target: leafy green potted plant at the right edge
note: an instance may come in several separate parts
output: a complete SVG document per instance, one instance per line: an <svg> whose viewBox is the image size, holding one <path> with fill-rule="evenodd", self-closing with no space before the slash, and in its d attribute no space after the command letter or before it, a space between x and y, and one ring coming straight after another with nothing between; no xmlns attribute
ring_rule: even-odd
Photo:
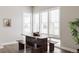
<svg viewBox="0 0 79 59"><path fill-rule="evenodd" d="M71 21L69 24L72 37L76 43L77 52L79 52L79 19L76 18L75 21Z"/></svg>

